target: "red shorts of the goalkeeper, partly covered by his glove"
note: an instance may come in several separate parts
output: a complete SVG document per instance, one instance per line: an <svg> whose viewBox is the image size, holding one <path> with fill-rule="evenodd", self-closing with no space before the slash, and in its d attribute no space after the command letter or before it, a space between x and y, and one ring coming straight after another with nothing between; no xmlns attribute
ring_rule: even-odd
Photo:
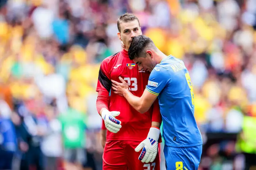
<svg viewBox="0 0 256 170"><path fill-rule="evenodd" d="M139 141L107 141L102 156L102 170L160 170L158 153L152 163L139 160L141 152L134 151L139 144Z"/></svg>

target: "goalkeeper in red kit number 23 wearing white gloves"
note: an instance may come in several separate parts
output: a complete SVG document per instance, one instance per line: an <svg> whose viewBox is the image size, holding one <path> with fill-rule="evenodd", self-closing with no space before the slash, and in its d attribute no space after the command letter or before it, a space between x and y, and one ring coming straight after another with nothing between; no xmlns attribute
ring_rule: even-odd
<svg viewBox="0 0 256 170"><path fill-rule="evenodd" d="M103 126L108 130L103 170L159 170L161 116L158 101L146 113L140 114L124 97L111 91L111 80L117 81L121 76L129 84L132 94L141 96L150 75L139 70L128 56L133 37L142 35L139 19L126 13L118 18L117 27L117 35L125 48L103 60L96 89L97 110L104 121Z"/></svg>

